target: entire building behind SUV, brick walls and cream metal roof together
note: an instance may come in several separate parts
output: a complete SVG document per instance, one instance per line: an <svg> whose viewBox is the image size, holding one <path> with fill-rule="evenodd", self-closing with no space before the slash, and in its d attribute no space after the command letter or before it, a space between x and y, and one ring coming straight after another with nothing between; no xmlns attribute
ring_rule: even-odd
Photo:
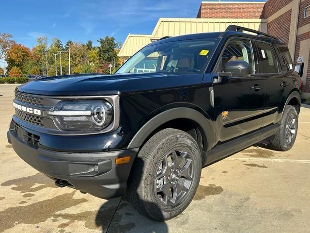
<svg viewBox="0 0 310 233"><path fill-rule="evenodd" d="M152 34L129 34L118 55L127 60L163 36L225 31L231 24L277 36L295 65L303 58L302 97L310 97L310 0L202 1L197 18L159 18Z"/></svg>

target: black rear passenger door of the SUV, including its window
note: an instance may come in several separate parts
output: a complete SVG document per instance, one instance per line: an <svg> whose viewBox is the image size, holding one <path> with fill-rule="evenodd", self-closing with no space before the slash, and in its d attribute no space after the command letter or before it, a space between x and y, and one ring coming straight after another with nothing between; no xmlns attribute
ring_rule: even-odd
<svg viewBox="0 0 310 233"><path fill-rule="evenodd" d="M289 78L289 67L282 70L279 56L273 45L265 42L253 42L256 49L258 73L264 77L265 110L262 127L279 121L288 88L292 79ZM279 51L278 51L279 52ZM291 65L292 66L292 65Z"/></svg>

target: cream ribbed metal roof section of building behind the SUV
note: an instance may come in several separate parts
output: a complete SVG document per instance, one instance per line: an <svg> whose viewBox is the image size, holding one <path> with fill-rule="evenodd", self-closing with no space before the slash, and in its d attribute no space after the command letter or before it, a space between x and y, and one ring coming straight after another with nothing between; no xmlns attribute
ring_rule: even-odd
<svg viewBox="0 0 310 233"><path fill-rule="evenodd" d="M223 32L231 24L267 32L266 19L159 18L152 34L128 34L118 56L128 59L144 46L164 36Z"/></svg>

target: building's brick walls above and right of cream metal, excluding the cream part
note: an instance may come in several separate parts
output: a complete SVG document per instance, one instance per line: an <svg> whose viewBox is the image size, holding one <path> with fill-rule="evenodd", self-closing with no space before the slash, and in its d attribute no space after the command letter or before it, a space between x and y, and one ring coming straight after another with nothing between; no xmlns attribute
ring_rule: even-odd
<svg viewBox="0 0 310 233"><path fill-rule="evenodd" d="M197 18L265 19L267 32L286 43L294 64L303 58L303 98L310 97L310 0L202 1Z"/></svg>

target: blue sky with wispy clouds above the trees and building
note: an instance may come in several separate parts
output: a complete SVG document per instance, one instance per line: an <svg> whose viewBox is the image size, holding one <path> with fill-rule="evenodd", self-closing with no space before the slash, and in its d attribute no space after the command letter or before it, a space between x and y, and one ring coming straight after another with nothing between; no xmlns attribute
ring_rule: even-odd
<svg viewBox="0 0 310 233"><path fill-rule="evenodd" d="M151 34L160 17L196 17L200 0L1 0L0 32L32 48L38 36L85 43Z"/></svg>

